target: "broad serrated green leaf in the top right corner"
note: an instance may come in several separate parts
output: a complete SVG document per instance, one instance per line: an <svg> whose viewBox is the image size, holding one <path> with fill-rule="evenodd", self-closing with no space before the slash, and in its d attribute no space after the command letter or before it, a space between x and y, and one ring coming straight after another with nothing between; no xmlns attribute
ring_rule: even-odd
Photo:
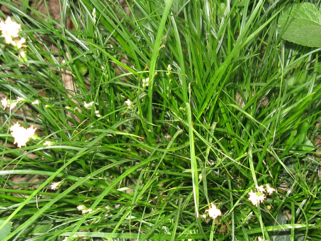
<svg viewBox="0 0 321 241"><path fill-rule="evenodd" d="M310 3L295 5L278 22L284 40L309 47L321 47L321 12Z"/></svg>

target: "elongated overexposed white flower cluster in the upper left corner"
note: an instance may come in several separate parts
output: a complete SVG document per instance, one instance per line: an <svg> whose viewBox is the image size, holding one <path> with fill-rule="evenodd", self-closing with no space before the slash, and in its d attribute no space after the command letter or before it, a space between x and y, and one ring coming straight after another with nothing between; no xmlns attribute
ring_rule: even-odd
<svg viewBox="0 0 321 241"><path fill-rule="evenodd" d="M0 22L0 31L5 42L17 47L17 49L24 47L23 44L26 42L25 38L17 39L19 37L20 30L21 25L12 21L10 17L8 17L5 21ZM26 54L23 50L20 50L20 56L23 59L26 58Z"/></svg>

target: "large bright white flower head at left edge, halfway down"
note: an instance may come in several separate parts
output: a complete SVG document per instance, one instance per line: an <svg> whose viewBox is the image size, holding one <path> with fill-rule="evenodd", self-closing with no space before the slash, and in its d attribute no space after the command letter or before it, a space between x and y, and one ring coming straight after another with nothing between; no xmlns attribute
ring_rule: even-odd
<svg viewBox="0 0 321 241"><path fill-rule="evenodd" d="M26 145L30 138L36 139L36 129L37 128L33 129L32 127L25 129L24 127L20 126L18 122L15 123L12 127L10 127L11 135L14 137L13 144L17 143L18 147L22 147Z"/></svg>

